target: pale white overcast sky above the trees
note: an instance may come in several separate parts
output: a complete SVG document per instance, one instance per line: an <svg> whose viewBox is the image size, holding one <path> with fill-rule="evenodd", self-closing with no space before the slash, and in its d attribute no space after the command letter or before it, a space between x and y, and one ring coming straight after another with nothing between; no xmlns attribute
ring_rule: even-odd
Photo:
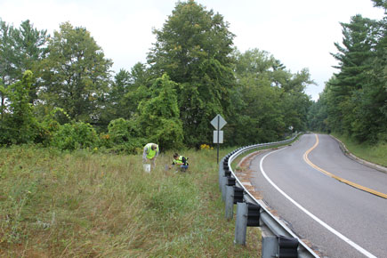
<svg viewBox="0 0 387 258"><path fill-rule="evenodd" d="M184 2L184 1L181 1ZM337 52L334 43L343 39L339 22L351 16L380 20L383 10L371 0L197 0L213 9L230 23L238 50L258 48L270 52L287 69L296 73L310 70L317 85L306 89L313 100L325 82L336 72ZM91 32L105 53L113 60L113 70L132 69L145 62L155 43L152 28L162 28L172 14L177 0L0 0L0 18L19 27L30 20L37 29L52 35L60 23Z"/></svg>

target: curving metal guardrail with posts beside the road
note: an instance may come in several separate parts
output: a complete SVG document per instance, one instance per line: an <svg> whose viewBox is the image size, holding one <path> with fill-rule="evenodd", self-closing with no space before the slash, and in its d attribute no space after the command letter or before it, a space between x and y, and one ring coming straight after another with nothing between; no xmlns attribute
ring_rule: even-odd
<svg viewBox="0 0 387 258"><path fill-rule="evenodd" d="M232 171L231 163L246 151L286 144L299 135L286 141L254 144L235 149L222 160L219 165L219 185L222 189L222 199L226 203L226 218L232 219L233 205L237 205L235 244L246 245L246 227L260 227L262 230L262 258L271 257L319 257L309 246L298 238L284 222L278 220L262 202L257 200L239 181Z"/></svg>

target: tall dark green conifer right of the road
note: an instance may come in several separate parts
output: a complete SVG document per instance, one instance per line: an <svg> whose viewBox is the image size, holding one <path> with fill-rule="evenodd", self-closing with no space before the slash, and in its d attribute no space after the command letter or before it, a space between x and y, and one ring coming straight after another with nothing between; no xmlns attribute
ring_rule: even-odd
<svg viewBox="0 0 387 258"><path fill-rule="evenodd" d="M339 73L329 84L329 121L333 130L367 141L375 137L383 121L380 108L385 93L381 85L385 78L380 77L380 72L386 64L381 59L385 32L380 22L361 15L353 16L351 23L342 26L343 46L335 44L339 52L334 54L339 60Z"/></svg>

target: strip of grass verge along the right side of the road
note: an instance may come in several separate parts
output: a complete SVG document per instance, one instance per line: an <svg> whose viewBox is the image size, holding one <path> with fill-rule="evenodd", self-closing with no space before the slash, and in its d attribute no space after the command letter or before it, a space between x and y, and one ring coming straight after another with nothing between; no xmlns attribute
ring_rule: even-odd
<svg viewBox="0 0 387 258"><path fill-rule="evenodd" d="M387 142L379 142L377 144L358 143L351 138L332 133L337 139L343 141L345 147L356 157L367 160L369 162L387 166Z"/></svg>

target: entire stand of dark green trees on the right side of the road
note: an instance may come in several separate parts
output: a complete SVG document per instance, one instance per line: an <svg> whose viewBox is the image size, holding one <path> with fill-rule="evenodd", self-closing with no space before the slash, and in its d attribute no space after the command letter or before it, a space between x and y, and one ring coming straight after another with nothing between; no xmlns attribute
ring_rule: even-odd
<svg viewBox="0 0 387 258"><path fill-rule="evenodd" d="M387 1L373 2L383 8L383 20L356 15L341 23L343 44L333 54L338 72L310 108L311 130L387 142Z"/></svg>

